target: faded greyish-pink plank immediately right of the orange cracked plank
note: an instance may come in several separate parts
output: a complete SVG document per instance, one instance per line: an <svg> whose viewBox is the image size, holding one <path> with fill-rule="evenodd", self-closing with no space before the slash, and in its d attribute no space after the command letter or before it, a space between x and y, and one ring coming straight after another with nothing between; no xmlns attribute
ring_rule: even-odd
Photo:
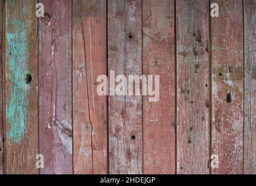
<svg viewBox="0 0 256 186"><path fill-rule="evenodd" d="M141 0L108 1L108 69L109 76L111 70L114 76L142 73ZM109 96L111 174L143 172L141 102L141 96Z"/></svg>

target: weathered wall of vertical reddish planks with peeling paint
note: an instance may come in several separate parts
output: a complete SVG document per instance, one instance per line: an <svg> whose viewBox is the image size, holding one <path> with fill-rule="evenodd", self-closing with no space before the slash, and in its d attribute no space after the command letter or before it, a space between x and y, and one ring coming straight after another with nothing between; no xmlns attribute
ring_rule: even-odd
<svg viewBox="0 0 256 186"><path fill-rule="evenodd" d="M0 174L256 174L255 0L0 10ZM141 74L159 75L158 102L97 94L99 75Z"/></svg>

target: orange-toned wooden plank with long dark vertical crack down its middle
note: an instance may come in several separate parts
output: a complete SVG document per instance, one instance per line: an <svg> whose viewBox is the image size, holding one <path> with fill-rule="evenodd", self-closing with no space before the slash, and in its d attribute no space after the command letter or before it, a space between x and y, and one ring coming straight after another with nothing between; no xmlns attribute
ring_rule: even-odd
<svg viewBox="0 0 256 186"><path fill-rule="evenodd" d="M106 1L73 1L74 174L106 174L107 99L97 94L106 75Z"/></svg>

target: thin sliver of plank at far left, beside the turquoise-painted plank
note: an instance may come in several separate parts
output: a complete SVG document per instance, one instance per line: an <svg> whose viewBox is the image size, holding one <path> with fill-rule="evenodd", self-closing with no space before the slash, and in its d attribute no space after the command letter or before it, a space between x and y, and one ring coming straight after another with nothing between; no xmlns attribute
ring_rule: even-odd
<svg viewBox="0 0 256 186"><path fill-rule="evenodd" d="M3 174L3 160L4 160L4 149L3 149L3 98L2 98L2 10L3 1L0 1L0 174Z"/></svg>

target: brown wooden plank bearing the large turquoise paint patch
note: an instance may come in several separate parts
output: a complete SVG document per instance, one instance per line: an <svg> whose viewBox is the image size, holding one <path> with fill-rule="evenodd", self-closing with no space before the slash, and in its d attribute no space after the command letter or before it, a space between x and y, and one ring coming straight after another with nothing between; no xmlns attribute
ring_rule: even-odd
<svg viewBox="0 0 256 186"><path fill-rule="evenodd" d="M5 1L6 173L37 174L37 1Z"/></svg>

